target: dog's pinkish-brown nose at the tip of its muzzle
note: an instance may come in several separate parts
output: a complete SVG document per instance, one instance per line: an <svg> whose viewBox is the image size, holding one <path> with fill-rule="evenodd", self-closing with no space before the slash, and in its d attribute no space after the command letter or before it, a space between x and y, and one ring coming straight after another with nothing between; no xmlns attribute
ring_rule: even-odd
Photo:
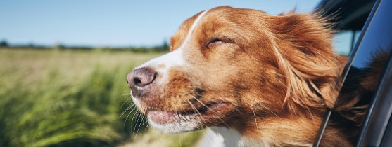
<svg viewBox="0 0 392 147"><path fill-rule="evenodd" d="M134 69L127 75L127 83L131 89L143 88L153 83L156 73L149 68Z"/></svg>

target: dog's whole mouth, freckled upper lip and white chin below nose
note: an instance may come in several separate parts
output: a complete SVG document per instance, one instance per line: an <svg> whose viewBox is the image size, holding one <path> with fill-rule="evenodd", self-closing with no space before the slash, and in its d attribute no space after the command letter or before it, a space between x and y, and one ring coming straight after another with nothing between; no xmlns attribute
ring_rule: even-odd
<svg viewBox="0 0 392 147"><path fill-rule="evenodd" d="M227 124L225 117L234 110L235 104L228 99L206 97L204 90L187 83L186 78L170 81L171 84L165 85L167 89L149 89L144 97L131 91L132 99L148 116L148 123L153 128L165 133L179 133Z"/></svg>

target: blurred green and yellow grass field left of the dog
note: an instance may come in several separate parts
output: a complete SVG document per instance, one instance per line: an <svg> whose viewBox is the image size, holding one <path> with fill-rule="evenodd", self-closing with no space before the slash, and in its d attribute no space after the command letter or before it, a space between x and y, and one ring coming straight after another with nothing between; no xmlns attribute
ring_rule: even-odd
<svg viewBox="0 0 392 147"><path fill-rule="evenodd" d="M200 132L159 134L127 109L125 76L159 55L0 48L0 146L191 146Z"/></svg>

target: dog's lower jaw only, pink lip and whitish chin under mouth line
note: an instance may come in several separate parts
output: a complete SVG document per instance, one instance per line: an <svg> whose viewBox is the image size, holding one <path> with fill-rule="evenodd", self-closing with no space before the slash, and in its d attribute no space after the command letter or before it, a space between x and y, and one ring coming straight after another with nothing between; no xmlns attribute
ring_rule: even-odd
<svg viewBox="0 0 392 147"><path fill-rule="evenodd" d="M183 124L183 123L198 123L201 128L210 120L220 119L220 112L225 107L229 106L227 102L210 102L199 108L191 106L189 111L148 111L148 118L150 123L155 125L165 126L170 124Z"/></svg>

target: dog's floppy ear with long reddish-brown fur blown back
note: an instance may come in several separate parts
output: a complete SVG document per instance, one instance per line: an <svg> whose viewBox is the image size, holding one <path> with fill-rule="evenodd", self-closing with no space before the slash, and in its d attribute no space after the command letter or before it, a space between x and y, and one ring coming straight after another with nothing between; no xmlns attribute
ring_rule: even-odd
<svg viewBox="0 0 392 147"><path fill-rule="evenodd" d="M327 20L317 14L287 13L268 21L279 70L286 76L289 109L332 108L343 59L332 50L334 31Z"/></svg>

